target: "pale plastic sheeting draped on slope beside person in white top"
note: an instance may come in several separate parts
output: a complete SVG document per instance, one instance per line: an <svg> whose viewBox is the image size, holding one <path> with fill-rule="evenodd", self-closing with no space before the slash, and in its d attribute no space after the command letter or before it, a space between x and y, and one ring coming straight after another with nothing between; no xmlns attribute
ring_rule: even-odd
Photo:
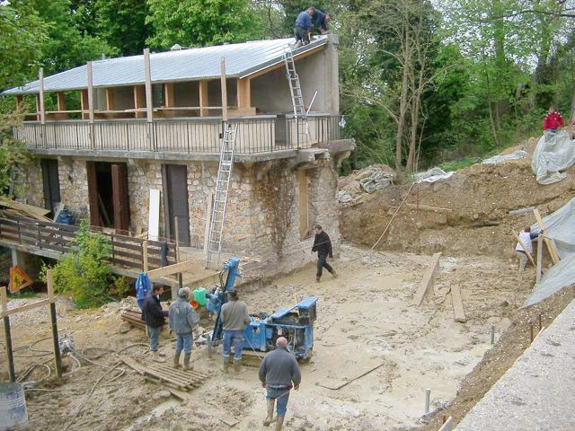
<svg viewBox="0 0 575 431"><path fill-rule="evenodd" d="M547 271L533 293L523 303L524 307L543 301L563 287L575 284L575 198L564 207L543 219L545 236L553 238L561 260ZM540 232L538 224L531 231Z"/></svg>

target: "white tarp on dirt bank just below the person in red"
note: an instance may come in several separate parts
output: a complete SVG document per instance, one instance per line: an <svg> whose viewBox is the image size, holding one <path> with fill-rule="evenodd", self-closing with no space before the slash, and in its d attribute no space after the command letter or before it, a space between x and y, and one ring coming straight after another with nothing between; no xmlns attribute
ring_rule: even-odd
<svg viewBox="0 0 575 431"><path fill-rule="evenodd" d="M567 177L567 174L560 171L569 168L573 163L575 142L571 140L571 134L566 130L557 134L545 132L535 146L531 170L539 184L553 184Z"/></svg>

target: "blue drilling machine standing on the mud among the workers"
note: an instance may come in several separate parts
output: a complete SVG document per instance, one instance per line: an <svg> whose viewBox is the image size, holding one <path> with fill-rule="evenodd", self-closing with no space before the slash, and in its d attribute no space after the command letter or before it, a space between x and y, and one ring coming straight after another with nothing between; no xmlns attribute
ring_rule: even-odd
<svg viewBox="0 0 575 431"><path fill-rule="evenodd" d="M208 293L208 312L216 313L214 330L208 336L208 353L222 340L223 324L221 319L222 305L227 302L226 292L234 288L235 278L239 273L239 258L226 261L220 271L220 285ZM224 275L227 272L226 282ZM276 339L288 339L289 350L297 359L309 360L314 350L314 321L317 298L308 297L288 308L281 308L271 315L266 313L252 314L252 321L245 328L243 349L253 352L267 352L276 345Z"/></svg>

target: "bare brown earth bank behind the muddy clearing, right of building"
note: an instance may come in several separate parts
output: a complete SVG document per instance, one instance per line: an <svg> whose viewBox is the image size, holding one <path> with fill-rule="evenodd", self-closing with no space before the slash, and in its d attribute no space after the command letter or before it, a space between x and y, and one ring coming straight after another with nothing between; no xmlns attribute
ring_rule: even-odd
<svg viewBox="0 0 575 431"><path fill-rule="evenodd" d="M377 250L512 258L515 240L511 231L535 223L535 218L531 213L509 216L509 211L537 207L546 216L569 201L575 191L575 167L559 183L542 186L535 181L531 155L536 143L537 138L531 138L506 151L525 150L529 155L523 159L474 164L447 180L415 184ZM341 204L344 239L372 246L409 189L410 185L391 186Z"/></svg>

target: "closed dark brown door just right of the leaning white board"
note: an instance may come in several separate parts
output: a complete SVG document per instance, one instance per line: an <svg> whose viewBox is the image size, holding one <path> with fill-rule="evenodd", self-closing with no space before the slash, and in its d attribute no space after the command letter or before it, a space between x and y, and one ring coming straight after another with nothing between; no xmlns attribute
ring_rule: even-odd
<svg viewBox="0 0 575 431"><path fill-rule="evenodd" d="M164 207L166 233L175 240L175 217L181 246L190 246L190 209L188 207L188 170L181 164L164 165Z"/></svg>

